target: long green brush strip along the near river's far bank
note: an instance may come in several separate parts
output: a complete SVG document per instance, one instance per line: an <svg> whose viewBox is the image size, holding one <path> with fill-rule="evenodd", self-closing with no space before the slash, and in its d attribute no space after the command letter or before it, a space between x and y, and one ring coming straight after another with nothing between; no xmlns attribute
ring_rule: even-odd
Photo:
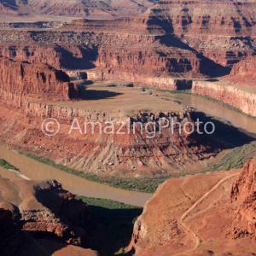
<svg viewBox="0 0 256 256"><path fill-rule="evenodd" d="M169 175L157 175L154 177L100 177L93 174L88 174L84 172L78 172L67 166L61 166L55 164L53 160L44 159L42 157L38 157L34 154L22 153L20 154L26 155L33 160L38 160L41 163L52 166L56 169L59 169L63 172L67 172L79 177L83 177L87 180L96 182L96 183L105 183L108 186L119 188L119 189L128 189L134 191L140 191L145 193L154 193L155 190L161 183L164 183L169 178L179 178L184 177L188 173L177 173L177 174L169 174ZM231 169L241 168L247 162L247 160L252 159L256 154L256 141L252 143L245 144L240 147L236 147L230 149L230 152L225 154L219 160L218 164L207 166L206 170L201 172L189 172L189 175L195 175L199 173L207 173L207 172L219 172L219 171L230 171Z"/></svg>

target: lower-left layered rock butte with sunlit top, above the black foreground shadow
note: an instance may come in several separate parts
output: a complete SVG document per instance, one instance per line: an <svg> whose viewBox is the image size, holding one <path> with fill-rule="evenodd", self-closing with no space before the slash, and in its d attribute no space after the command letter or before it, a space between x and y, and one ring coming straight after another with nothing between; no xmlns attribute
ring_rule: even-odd
<svg viewBox="0 0 256 256"><path fill-rule="evenodd" d="M83 201L63 190L56 181L9 181L0 177L2 197L0 207L15 212L22 230L44 236L55 235L73 245L84 245L90 226L90 211ZM12 195L11 197L9 195ZM18 212L17 212L18 211ZM5 212L6 213L6 212ZM7 214L9 213L9 214ZM4 232L13 223L11 212L0 211Z"/></svg>

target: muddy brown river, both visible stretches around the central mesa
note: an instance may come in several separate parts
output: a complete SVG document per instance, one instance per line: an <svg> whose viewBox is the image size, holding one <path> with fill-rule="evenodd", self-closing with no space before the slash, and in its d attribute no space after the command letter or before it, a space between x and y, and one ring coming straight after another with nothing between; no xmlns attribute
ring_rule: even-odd
<svg viewBox="0 0 256 256"><path fill-rule="evenodd" d="M183 105L195 108L197 111L218 116L226 119L231 125L236 126L240 131L256 138L256 120L249 119L241 113L236 113L224 108L217 103L209 102L199 96L177 95ZM63 189L67 189L76 195L84 195L96 198L111 199L125 204L143 207L152 197L152 194L115 189L101 183L90 182L84 178L61 172L51 166L44 165L24 155L20 155L8 148L0 146L0 159L8 161L11 165L20 169L21 174L30 179L55 179L62 183ZM2 177L22 178L19 173L9 172L0 168Z"/></svg>

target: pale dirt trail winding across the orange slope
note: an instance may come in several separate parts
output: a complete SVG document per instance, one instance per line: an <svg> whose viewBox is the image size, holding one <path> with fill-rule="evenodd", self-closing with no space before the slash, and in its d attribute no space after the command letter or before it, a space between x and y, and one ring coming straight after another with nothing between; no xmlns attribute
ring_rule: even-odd
<svg viewBox="0 0 256 256"><path fill-rule="evenodd" d="M206 199L207 196L210 195L214 190L218 189L218 187L222 183L224 183L227 179L229 179L230 177L234 177L236 175L239 175L239 174L240 174L240 170L237 171L236 174L231 174L228 177L224 177L212 189L210 189L205 195L203 195L198 201L195 201L195 204L192 207L190 207L186 212L183 213L181 218L179 218L178 223L183 226L184 230L187 230L187 232L188 232L188 234L190 234L190 236L194 237L194 239L195 239L195 246L192 249L189 249L186 252L173 254L172 256L178 256L178 255L184 255L184 254L192 253L193 251L195 251L195 249L200 244L200 238L198 236L196 236L195 233L192 230L190 230L189 227L186 224L183 223L184 219L188 216L189 212L192 212L195 209L195 207L197 207L204 199Z"/></svg>

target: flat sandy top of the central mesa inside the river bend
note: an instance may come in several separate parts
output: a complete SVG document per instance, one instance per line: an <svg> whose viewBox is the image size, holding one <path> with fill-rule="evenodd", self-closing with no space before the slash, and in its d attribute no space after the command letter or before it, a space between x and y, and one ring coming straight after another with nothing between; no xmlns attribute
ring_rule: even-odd
<svg viewBox="0 0 256 256"><path fill-rule="evenodd" d="M96 111L122 110L126 113L139 110L182 111L183 107L175 96L166 99L158 96L157 91L143 92L141 88L104 87L102 84L92 84L84 87L85 101L79 102L47 102L57 106L91 109ZM163 94L163 93L160 93ZM170 94L169 94L170 95Z"/></svg>

